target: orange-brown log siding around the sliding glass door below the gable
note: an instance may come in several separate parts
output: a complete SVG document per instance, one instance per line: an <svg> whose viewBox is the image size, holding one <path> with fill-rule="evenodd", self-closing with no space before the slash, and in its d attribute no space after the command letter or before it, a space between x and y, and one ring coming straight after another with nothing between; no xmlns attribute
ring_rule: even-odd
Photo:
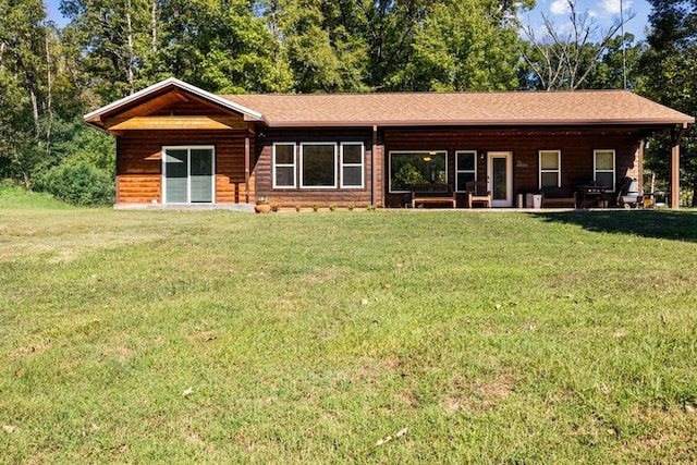
<svg viewBox="0 0 697 465"><path fill-rule="evenodd" d="M254 150L254 139L250 140ZM216 203L246 203L244 132L129 131L119 137L117 203L162 201L162 146L216 147ZM252 180L254 181L254 180ZM253 184L250 182L250 189ZM250 200L254 192L249 193Z"/></svg>

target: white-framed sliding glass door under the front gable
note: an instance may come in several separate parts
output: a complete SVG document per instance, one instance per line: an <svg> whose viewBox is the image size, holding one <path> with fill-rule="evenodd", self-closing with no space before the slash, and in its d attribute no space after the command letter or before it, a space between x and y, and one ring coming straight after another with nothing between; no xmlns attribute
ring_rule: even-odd
<svg viewBox="0 0 697 465"><path fill-rule="evenodd" d="M162 201L211 204L215 166L213 147L162 147Z"/></svg>

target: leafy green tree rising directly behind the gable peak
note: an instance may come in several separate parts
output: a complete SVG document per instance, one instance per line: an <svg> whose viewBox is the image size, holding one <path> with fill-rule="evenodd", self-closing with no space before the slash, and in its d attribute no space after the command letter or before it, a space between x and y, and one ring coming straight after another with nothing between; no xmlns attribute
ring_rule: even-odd
<svg viewBox="0 0 697 465"><path fill-rule="evenodd" d="M169 73L213 93L290 90L288 64L254 1L162 1L159 17L151 81Z"/></svg>

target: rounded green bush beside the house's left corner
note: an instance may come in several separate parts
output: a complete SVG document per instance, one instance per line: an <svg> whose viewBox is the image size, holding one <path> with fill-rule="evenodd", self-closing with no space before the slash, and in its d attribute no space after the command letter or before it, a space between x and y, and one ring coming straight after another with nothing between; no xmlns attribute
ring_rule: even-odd
<svg viewBox="0 0 697 465"><path fill-rule="evenodd" d="M38 187L53 197L78 206L102 206L114 203L114 182L103 170L80 162L48 170Z"/></svg>

